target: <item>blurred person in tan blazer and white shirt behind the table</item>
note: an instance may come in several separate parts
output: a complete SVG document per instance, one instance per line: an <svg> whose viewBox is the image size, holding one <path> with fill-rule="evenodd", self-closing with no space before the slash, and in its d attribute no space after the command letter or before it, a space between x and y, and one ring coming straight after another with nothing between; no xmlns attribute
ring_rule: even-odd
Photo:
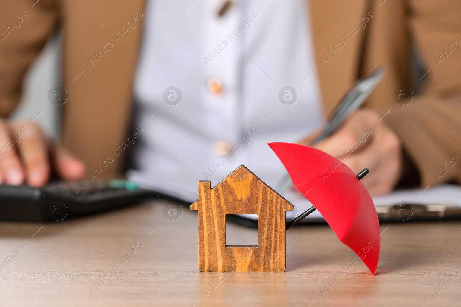
<svg viewBox="0 0 461 307"><path fill-rule="evenodd" d="M460 16L450 0L9 1L0 181L125 173L192 201L198 180L214 185L244 164L274 187L284 168L266 143L309 144L355 81L384 67L365 106L315 147L369 168L372 194L459 183ZM68 93L59 145L7 119L57 27Z"/></svg>

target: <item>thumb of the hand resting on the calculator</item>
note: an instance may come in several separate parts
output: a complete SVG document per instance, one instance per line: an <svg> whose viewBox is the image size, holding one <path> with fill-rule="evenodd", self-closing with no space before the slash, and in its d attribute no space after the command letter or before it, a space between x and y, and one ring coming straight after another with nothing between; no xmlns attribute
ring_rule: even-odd
<svg viewBox="0 0 461 307"><path fill-rule="evenodd" d="M73 156L65 148L51 145L53 164L59 176L66 180L79 180L85 174L85 163Z"/></svg>

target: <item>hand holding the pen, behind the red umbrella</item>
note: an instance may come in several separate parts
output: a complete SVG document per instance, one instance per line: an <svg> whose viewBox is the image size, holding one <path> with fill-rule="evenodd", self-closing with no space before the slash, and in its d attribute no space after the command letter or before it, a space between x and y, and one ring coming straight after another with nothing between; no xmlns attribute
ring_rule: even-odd
<svg viewBox="0 0 461 307"><path fill-rule="evenodd" d="M401 140L379 119L375 111L358 110L331 137L313 145L345 163L355 174L368 168L370 174L361 181L372 195L392 191L402 170ZM300 143L308 145L309 139Z"/></svg>

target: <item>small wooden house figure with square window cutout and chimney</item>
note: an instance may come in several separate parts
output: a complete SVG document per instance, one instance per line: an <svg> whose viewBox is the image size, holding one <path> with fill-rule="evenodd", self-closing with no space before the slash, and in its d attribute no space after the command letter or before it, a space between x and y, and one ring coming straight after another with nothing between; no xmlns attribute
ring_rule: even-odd
<svg viewBox="0 0 461 307"><path fill-rule="evenodd" d="M218 185L199 181L199 270L284 272L285 211L291 203L241 165ZM257 245L226 245L226 214L258 214Z"/></svg>

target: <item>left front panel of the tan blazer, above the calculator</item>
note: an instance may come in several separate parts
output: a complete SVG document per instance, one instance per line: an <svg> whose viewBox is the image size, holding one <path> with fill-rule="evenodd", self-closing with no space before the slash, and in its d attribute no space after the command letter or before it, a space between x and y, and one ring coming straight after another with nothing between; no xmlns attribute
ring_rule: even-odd
<svg viewBox="0 0 461 307"><path fill-rule="evenodd" d="M144 0L63 1L62 139L99 178L113 177L123 162L112 150L129 133L143 11Z"/></svg>

